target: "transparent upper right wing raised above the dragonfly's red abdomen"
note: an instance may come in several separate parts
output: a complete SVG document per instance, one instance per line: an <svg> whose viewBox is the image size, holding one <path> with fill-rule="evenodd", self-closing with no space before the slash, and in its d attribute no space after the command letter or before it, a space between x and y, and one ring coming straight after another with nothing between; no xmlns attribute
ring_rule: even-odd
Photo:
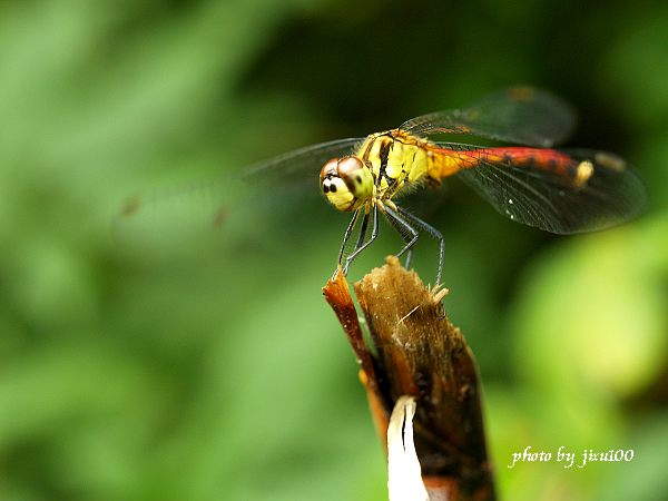
<svg viewBox="0 0 668 501"><path fill-rule="evenodd" d="M413 118L400 129L416 136L465 134L519 145L551 147L573 130L571 107L544 90L513 87L470 108Z"/></svg>

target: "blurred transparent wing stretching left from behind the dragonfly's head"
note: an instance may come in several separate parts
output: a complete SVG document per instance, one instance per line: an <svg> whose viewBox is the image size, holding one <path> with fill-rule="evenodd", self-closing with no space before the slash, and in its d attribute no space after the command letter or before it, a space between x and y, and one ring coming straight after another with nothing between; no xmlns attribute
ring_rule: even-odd
<svg viewBox="0 0 668 501"><path fill-rule="evenodd" d="M347 155L360 140L321 143L261 161L240 173L131 197L114 220L114 234L125 242L138 238L178 242L196 234L198 237L213 234L216 228L224 228L228 235L234 222L242 219L238 214L271 215L287 210L291 200L304 205L310 194L317 196L318 175L325 161Z"/></svg>

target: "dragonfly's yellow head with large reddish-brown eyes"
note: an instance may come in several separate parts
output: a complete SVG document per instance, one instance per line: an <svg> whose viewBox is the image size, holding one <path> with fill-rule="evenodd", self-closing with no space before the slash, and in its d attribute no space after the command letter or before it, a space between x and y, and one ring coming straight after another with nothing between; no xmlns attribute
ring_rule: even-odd
<svg viewBox="0 0 668 501"><path fill-rule="evenodd" d="M373 195L373 176L357 157L332 158L321 170L321 190L337 210L356 210Z"/></svg>

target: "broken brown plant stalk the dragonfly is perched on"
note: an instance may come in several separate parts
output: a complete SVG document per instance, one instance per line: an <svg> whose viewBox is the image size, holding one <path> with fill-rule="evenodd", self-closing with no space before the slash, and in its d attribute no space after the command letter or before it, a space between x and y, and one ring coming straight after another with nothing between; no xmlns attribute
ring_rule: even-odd
<svg viewBox="0 0 668 501"><path fill-rule="evenodd" d="M414 396L414 442L430 500L493 500L478 370L460 330L444 313L448 291L430 291L389 257L355 284L372 346L343 275L323 292L357 357L383 443L396 400Z"/></svg>

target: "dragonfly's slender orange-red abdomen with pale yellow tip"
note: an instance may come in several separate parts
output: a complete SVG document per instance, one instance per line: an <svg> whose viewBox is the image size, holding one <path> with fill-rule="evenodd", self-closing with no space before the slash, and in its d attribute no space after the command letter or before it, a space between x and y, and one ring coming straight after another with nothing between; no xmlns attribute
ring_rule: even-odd
<svg viewBox="0 0 668 501"><path fill-rule="evenodd" d="M461 149L454 149L454 147ZM529 147L493 147L493 148L469 148L465 145L452 145L452 147L435 147L431 149L432 169L431 177L442 179L452 176L462 169L472 169L481 164L495 167L518 167L538 169L546 174L552 174L570 180L578 186L587 181L591 175L589 166L571 156L549 148Z"/></svg>

